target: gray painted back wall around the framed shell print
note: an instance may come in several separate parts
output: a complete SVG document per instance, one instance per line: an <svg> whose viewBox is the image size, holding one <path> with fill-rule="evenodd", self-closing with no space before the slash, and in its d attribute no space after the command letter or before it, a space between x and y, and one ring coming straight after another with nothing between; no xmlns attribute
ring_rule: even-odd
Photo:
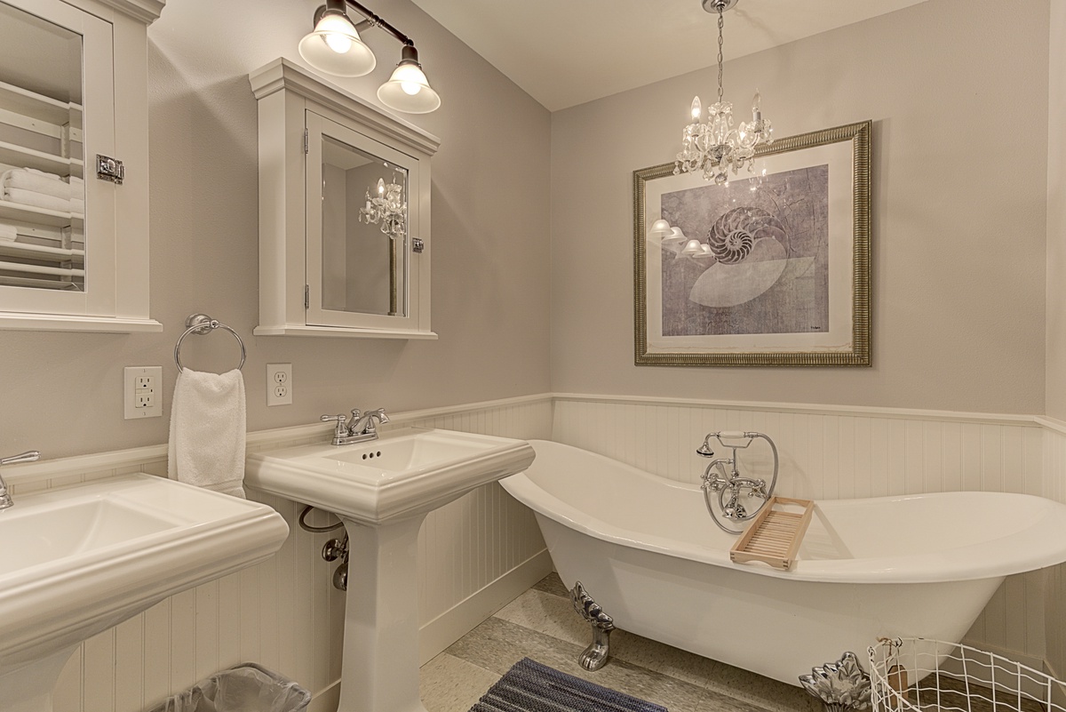
<svg viewBox="0 0 1066 712"><path fill-rule="evenodd" d="M871 369L633 366L632 171L716 71L555 112L554 390L1041 412L1048 42L1047 0L931 0L726 65L778 136L874 120Z"/></svg>

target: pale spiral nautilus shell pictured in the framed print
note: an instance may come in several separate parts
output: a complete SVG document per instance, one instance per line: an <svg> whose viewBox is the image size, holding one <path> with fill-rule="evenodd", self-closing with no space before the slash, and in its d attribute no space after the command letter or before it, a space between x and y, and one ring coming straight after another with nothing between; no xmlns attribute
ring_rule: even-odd
<svg viewBox="0 0 1066 712"><path fill-rule="evenodd" d="M762 208L729 210L714 221L707 241L715 262L689 294L707 307L733 307L754 300L777 284L789 264L788 228Z"/></svg>

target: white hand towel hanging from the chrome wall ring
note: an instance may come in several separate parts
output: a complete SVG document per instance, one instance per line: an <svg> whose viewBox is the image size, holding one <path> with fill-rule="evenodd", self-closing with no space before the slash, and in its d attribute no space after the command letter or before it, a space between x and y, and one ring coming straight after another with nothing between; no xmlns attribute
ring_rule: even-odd
<svg viewBox="0 0 1066 712"><path fill-rule="evenodd" d="M246 431L241 372L184 369L171 404L168 476L244 499Z"/></svg>

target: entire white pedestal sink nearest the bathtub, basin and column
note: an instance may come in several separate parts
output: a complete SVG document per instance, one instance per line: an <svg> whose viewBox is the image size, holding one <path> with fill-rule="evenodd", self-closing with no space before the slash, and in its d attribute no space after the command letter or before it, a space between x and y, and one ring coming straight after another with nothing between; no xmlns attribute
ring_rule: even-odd
<svg viewBox="0 0 1066 712"><path fill-rule="evenodd" d="M533 462L528 442L406 428L351 446L248 456L245 483L335 513L350 539L338 712L424 712L418 529L431 511Z"/></svg>

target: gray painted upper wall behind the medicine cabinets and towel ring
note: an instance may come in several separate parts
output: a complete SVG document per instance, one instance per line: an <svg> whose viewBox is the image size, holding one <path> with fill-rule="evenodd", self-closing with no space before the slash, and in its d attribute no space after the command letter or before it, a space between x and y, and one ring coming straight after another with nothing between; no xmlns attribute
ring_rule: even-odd
<svg viewBox="0 0 1066 712"><path fill-rule="evenodd" d="M440 136L433 159L433 328L437 341L252 336L258 320L256 100L247 72L301 62L317 0L173 0L149 28L152 335L0 331L0 453L53 458L164 442L188 314L244 337L248 428L323 412L393 410L549 390L548 112L407 0L374 10L418 43L440 92L410 120ZM240 32L232 28L239 28ZM369 76L337 83L376 102L400 46L366 33ZM133 177L138 180L143 177ZM219 333L190 337L182 361L236 366ZM268 408L265 365L293 365L293 404ZM163 366L167 417L123 419L124 366Z"/></svg>

